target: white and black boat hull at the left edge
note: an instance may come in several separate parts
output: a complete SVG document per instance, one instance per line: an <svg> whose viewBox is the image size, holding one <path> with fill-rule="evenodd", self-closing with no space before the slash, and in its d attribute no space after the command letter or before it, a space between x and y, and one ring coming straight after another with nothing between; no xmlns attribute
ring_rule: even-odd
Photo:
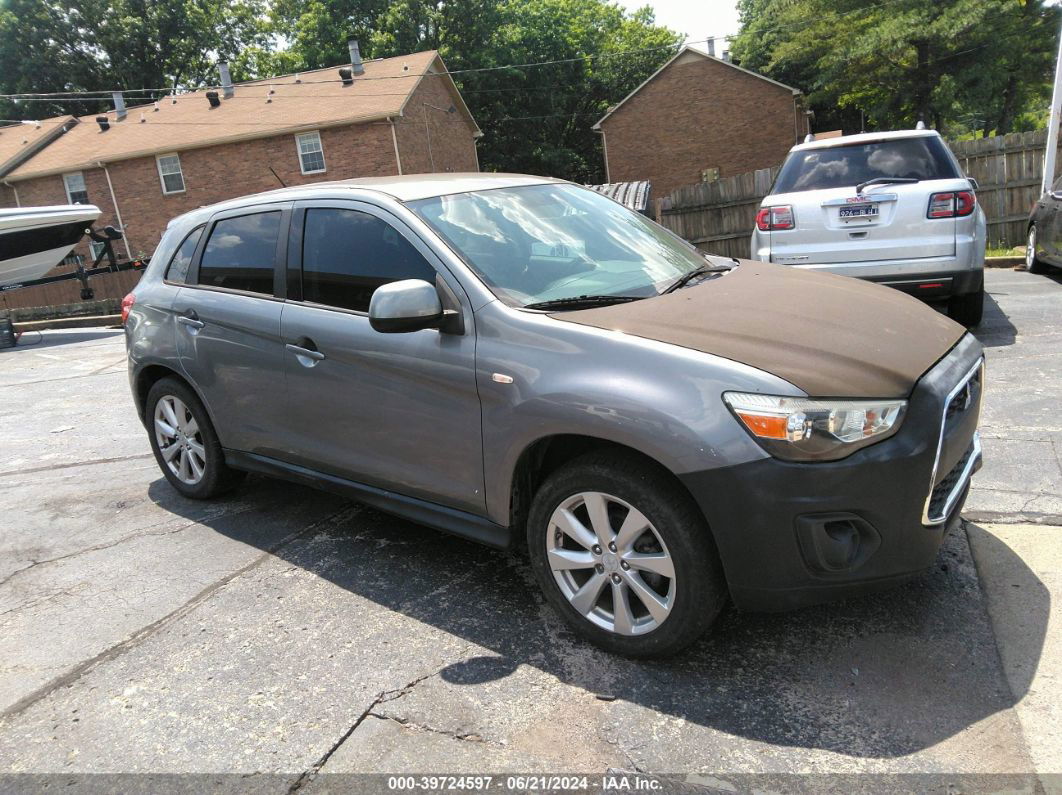
<svg viewBox="0 0 1062 795"><path fill-rule="evenodd" d="M91 204L0 210L0 288L51 271L99 217Z"/></svg>

